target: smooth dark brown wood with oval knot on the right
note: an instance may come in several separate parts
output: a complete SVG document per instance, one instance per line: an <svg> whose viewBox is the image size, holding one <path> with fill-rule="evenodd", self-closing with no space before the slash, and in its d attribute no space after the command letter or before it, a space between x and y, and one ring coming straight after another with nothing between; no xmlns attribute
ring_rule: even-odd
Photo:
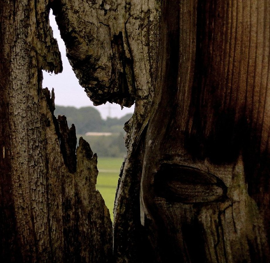
<svg viewBox="0 0 270 263"><path fill-rule="evenodd" d="M141 180L157 262L269 260L269 5L163 4Z"/></svg>

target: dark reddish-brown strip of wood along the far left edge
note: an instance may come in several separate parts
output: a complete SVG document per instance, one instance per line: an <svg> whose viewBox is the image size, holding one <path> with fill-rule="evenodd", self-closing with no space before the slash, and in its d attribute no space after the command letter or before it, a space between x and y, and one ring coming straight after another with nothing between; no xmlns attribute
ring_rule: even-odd
<svg viewBox="0 0 270 263"><path fill-rule="evenodd" d="M13 6L13 5L11 5ZM0 49L0 74L1 74L1 82L0 82L0 121L1 121L1 129L0 129L0 148L1 148L1 158L0 158L0 173L1 173L1 258L6 261L16 261L20 260L21 255L18 250L18 241L16 235L16 218L15 218L15 208L14 208L14 200L13 196L10 194L12 191L12 183L11 183L11 164L10 164L10 130L8 128L8 96L5 92L5 87L8 86L8 81L10 77L10 66L6 61L11 59L11 39L6 39L5 35L7 32L10 32L13 35L13 30L9 31L9 28L6 23L6 20L9 23L12 21L13 12L9 10L8 6L5 6L3 2L0 3L0 41L1 41L1 49ZM4 77L6 76L6 77ZM5 125L3 125L5 124ZM6 224L6 222L9 224ZM14 244L10 246L10 244Z"/></svg>

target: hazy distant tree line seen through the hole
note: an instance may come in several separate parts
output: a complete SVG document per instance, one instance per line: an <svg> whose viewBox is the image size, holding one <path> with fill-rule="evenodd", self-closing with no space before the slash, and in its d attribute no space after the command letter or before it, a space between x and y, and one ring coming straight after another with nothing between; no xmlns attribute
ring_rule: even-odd
<svg viewBox="0 0 270 263"><path fill-rule="evenodd" d="M124 157L127 154L124 145L125 131L123 129L132 114L121 118L101 118L100 112L93 107L63 107L55 106L54 115L65 115L69 127L74 124L77 138L83 136L88 141L98 157ZM86 136L87 132L111 132L111 136Z"/></svg>

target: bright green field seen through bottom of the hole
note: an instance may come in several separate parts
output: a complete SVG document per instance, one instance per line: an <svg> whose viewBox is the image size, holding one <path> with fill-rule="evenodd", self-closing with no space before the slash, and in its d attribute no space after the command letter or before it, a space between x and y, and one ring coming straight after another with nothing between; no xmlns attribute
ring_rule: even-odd
<svg viewBox="0 0 270 263"><path fill-rule="evenodd" d="M98 179L96 188L102 194L105 204L110 210L111 219L113 219L112 211L115 192L123 160L124 158L98 157Z"/></svg>

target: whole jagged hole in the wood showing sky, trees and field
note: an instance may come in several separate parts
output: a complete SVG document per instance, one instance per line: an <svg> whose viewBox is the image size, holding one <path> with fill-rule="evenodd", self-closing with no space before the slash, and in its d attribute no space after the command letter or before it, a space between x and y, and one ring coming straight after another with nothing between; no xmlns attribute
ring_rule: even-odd
<svg viewBox="0 0 270 263"><path fill-rule="evenodd" d="M124 123L130 119L134 106L124 107L123 110L115 103L93 106L84 89L78 84L68 62L64 42L60 37L52 12L49 20L61 52L63 72L55 75L43 71L43 87L48 86L50 90L54 88L56 93L54 115L56 117L65 115L69 127L72 123L75 124L76 136L83 136L90 143L92 150L97 152L100 171L96 187L101 192L113 219L112 208L119 171L127 153L123 127ZM64 106L59 106L59 104Z"/></svg>

